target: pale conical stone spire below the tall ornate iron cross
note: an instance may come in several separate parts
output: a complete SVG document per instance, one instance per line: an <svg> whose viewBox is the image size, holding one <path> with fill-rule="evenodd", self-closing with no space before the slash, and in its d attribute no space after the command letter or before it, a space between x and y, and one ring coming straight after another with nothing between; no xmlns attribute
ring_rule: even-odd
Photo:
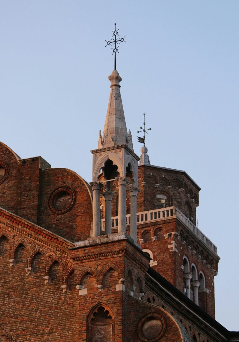
<svg viewBox="0 0 239 342"><path fill-rule="evenodd" d="M109 105L106 114L106 121L104 123L104 131L102 136L102 147L111 147L126 144L130 149L132 147L131 134L128 136L124 109L121 99L119 82L122 78L119 76L117 70L113 70L109 76L111 82L111 91L109 98ZM131 139L131 140L130 140ZM129 140L129 141L128 141Z"/></svg>

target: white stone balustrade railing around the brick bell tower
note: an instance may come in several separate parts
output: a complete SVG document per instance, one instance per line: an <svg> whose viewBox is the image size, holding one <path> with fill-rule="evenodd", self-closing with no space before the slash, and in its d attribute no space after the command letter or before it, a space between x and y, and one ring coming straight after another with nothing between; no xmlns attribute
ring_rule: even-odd
<svg viewBox="0 0 239 342"><path fill-rule="evenodd" d="M178 208L167 207L137 213L137 224L150 221L158 221L177 217L191 230L205 245L217 254L217 247L204 235ZM130 224L130 214L126 215L126 225ZM101 220L102 231L104 231L104 219ZM118 227L118 216L112 217L112 229Z"/></svg>

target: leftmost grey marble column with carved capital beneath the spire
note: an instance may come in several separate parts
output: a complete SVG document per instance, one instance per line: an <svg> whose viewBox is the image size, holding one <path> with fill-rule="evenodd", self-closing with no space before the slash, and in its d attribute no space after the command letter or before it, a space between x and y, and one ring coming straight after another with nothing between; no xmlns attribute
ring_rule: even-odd
<svg viewBox="0 0 239 342"><path fill-rule="evenodd" d="M103 187L103 184L100 181L91 182L90 185L93 189L93 229L92 229L92 237L99 236L100 232L100 189Z"/></svg>

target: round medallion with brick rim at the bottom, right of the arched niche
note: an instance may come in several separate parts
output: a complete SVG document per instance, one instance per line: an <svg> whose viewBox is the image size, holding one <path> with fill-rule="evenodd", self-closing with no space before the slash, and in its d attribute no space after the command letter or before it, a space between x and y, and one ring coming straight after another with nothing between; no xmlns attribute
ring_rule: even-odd
<svg viewBox="0 0 239 342"><path fill-rule="evenodd" d="M157 342L163 336L166 323L163 316L159 314L148 314L138 324L138 336L143 342Z"/></svg>

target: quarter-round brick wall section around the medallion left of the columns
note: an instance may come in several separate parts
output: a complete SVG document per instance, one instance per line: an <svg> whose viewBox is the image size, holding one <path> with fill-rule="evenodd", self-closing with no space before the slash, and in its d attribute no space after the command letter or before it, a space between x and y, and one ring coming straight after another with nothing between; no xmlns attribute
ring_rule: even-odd
<svg viewBox="0 0 239 342"><path fill-rule="evenodd" d="M75 204L64 214L50 211L48 199L58 187L70 186L76 192ZM86 240L92 224L92 201L89 188L74 172L67 169L47 169L40 172L38 224L70 241Z"/></svg>

